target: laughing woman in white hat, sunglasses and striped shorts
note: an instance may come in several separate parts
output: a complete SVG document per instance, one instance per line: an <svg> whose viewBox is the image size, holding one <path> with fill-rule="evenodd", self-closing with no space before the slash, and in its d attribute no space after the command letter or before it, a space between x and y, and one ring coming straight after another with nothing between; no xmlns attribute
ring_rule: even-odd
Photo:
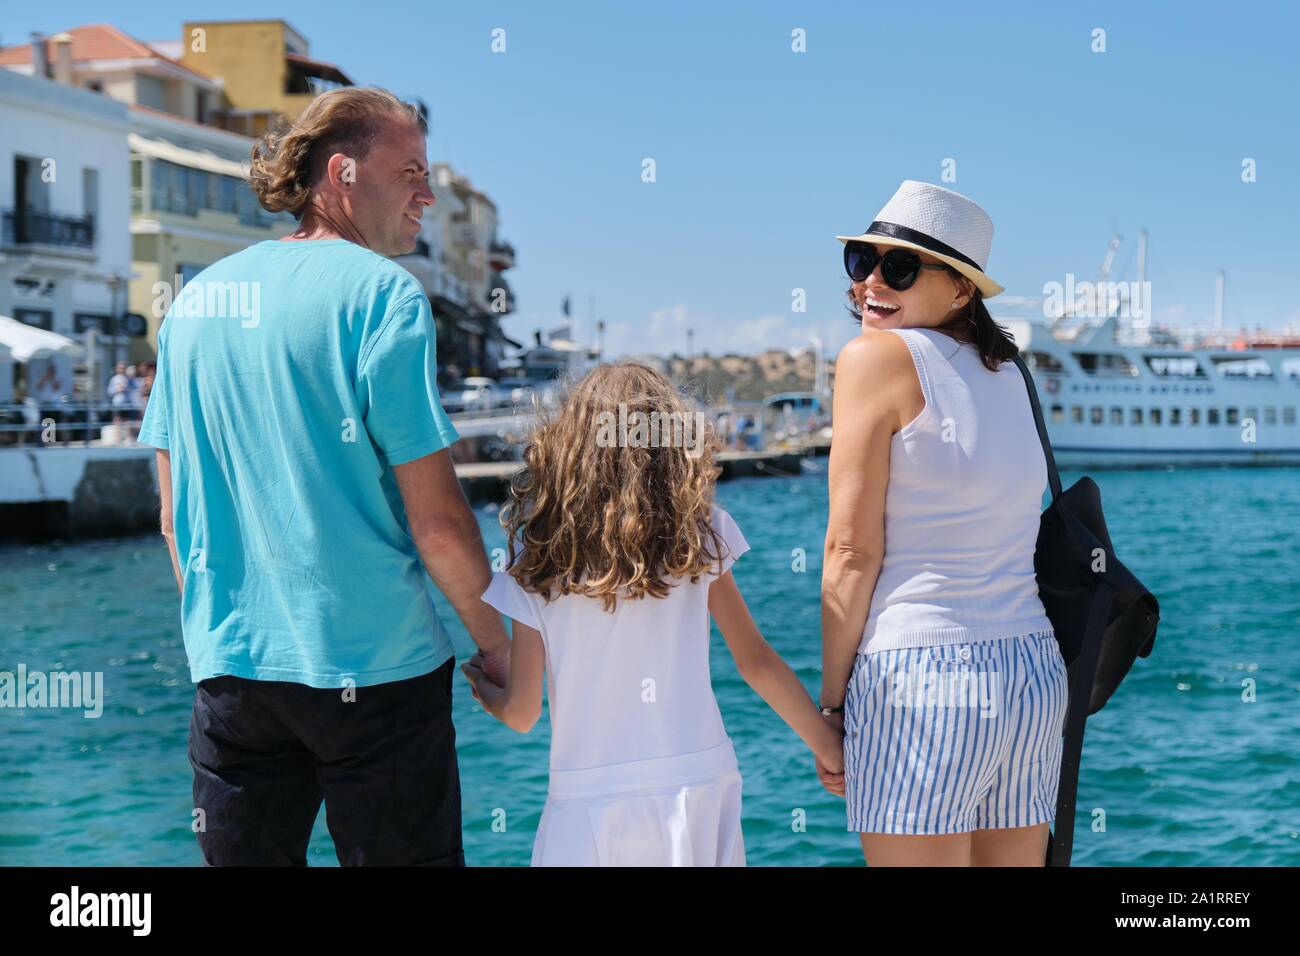
<svg viewBox="0 0 1300 956"><path fill-rule="evenodd" d="M868 865L1041 866L1066 669L1034 576L1046 463L984 307L993 224L906 181L840 235L862 334L836 363L822 581L827 719Z"/></svg>

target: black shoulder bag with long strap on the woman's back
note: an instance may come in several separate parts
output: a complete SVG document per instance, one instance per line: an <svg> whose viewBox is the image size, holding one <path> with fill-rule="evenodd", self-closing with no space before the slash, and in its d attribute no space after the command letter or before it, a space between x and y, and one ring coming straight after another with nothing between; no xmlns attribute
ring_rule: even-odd
<svg viewBox="0 0 1300 956"><path fill-rule="evenodd" d="M1160 604L1115 557L1097 483L1084 476L1069 490L1061 490L1037 388L1019 355L1014 362L1030 389L1034 424L1052 485L1052 503L1039 523L1034 571L1039 597L1070 671L1056 834L1048 840L1046 856L1048 866L1069 866L1084 723L1106 705L1134 661L1150 654Z"/></svg>

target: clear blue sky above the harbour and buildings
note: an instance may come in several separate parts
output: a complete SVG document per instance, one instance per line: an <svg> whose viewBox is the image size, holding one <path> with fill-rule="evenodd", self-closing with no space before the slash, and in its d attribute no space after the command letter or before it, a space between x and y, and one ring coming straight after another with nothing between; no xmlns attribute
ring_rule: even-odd
<svg viewBox="0 0 1300 956"><path fill-rule="evenodd" d="M1252 3L5 4L4 43L112 22L174 39L186 18L282 17L356 82L421 96L430 157L498 204L520 341L589 303L610 354L833 352L857 332L833 235L902 179L996 224L994 316L1067 273L1135 278L1149 232L1157 320L1300 324L1300 5ZM506 52L491 52L491 31ZM1106 31L1106 52L1091 49ZM790 33L806 31L806 52ZM656 181L641 181L653 157ZM1257 181L1242 181L1242 161ZM792 311L805 289L807 311Z"/></svg>

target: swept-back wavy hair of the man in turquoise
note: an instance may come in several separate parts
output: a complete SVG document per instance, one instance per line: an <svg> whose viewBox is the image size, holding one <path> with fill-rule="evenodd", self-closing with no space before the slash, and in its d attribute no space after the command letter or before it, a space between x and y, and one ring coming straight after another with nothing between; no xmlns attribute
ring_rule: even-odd
<svg viewBox="0 0 1300 956"><path fill-rule="evenodd" d="M248 185L264 209L300 220L329 157L343 152L365 159L380 133L394 121L429 131L420 111L387 90L350 86L324 92L287 127L272 130L254 143Z"/></svg>

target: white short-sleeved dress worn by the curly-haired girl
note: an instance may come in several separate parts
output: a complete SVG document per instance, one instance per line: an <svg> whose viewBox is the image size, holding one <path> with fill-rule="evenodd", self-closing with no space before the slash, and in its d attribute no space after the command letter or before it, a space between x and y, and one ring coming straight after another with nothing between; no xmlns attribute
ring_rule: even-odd
<svg viewBox="0 0 1300 956"><path fill-rule="evenodd" d="M749 544L723 509L711 520L722 568L663 598L546 604L504 571L484 592L546 646L551 773L534 866L745 865L741 775L708 676L708 585Z"/></svg>

